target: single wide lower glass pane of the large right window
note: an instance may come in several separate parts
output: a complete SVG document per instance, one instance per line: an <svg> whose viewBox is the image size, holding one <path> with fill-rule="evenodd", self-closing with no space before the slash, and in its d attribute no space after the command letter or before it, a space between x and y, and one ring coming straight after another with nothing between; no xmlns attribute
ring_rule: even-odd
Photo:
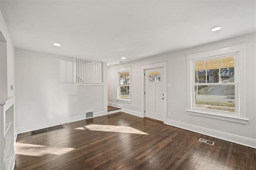
<svg viewBox="0 0 256 170"><path fill-rule="evenodd" d="M235 112L235 85L195 86L195 107Z"/></svg>

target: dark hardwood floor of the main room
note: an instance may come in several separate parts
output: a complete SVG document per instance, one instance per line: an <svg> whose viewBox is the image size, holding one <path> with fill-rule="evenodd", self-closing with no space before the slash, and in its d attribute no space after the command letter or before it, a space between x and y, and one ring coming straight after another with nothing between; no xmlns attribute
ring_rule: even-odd
<svg viewBox="0 0 256 170"><path fill-rule="evenodd" d="M64 127L35 136L19 134L15 169L255 170L256 166L256 149L122 112Z"/></svg>

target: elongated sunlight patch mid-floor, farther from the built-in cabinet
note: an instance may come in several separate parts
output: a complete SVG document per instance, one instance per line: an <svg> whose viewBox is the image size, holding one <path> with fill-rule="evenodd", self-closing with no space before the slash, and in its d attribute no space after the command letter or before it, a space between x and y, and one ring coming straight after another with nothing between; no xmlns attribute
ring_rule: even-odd
<svg viewBox="0 0 256 170"><path fill-rule="evenodd" d="M140 130L137 130L132 127L123 127L123 126L113 126L113 125L86 125L84 127L75 128L78 130L96 130L96 131L105 131L105 132L120 132L120 133L133 133L133 134L147 134Z"/></svg>

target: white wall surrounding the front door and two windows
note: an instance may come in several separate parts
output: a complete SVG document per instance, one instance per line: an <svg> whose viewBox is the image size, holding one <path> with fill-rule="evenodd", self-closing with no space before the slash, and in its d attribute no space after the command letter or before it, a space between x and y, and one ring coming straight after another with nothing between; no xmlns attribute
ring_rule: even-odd
<svg viewBox="0 0 256 170"><path fill-rule="evenodd" d="M186 113L186 54L214 49L235 43L247 43L247 119L246 125L218 119L198 117ZM143 114L141 98L141 66L160 61L167 61L167 83L172 87L167 89L167 112L171 113L167 124L185 128L202 134L208 134L224 140L229 140L256 148L256 69L255 69L255 34L247 34L228 40L192 47L164 55L143 59L140 61L108 67L108 102L121 104L124 109ZM132 103L116 101L116 69L131 66L131 100ZM241 76L241 75L240 75Z"/></svg>

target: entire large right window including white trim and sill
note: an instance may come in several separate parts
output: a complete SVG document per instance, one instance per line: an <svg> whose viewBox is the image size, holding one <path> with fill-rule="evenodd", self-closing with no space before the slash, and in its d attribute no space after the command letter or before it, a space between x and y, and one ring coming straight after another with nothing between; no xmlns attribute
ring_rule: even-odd
<svg viewBox="0 0 256 170"><path fill-rule="evenodd" d="M246 124L246 43L187 55L187 113Z"/></svg>

